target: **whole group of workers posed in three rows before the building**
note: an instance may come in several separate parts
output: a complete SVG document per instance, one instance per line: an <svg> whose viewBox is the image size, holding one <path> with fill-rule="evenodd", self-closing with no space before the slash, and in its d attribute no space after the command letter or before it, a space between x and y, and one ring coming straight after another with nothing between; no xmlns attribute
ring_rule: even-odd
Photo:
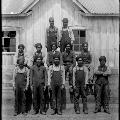
<svg viewBox="0 0 120 120"><path fill-rule="evenodd" d="M68 28L68 19L63 19L63 28L58 40L58 29L54 26L54 19L49 19L50 27L46 31L47 67L45 67L45 55L42 53L41 43L35 45L36 52L27 64L24 53L25 46L18 46L13 74L13 88L15 90L15 116L23 113L26 115L33 105L32 114L46 114L49 104L53 110L52 115L62 115L66 109L65 81L69 78L70 100L74 103L76 114L80 114L79 98L82 97L83 112L88 114L86 89L91 75L90 63L92 57L88 51L88 43L83 43L83 51L75 56L72 50L74 41L73 33ZM57 48L60 48L60 51ZM109 67L105 65L106 57L99 58L100 66L94 71L96 76L95 113L101 111L103 106L106 113L109 112L109 81L111 74ZM76 64L77 63L77 64ZM32 98L26 93L31 90ZM29 91L30 92L30 91ZM30 97L30 98L27 98ZM31 99L31 103L29 100ZM28 100L28 101L27 101ZM26 102L27 101L27 102ZM27 105L26 105L27 104Z"/></svg>

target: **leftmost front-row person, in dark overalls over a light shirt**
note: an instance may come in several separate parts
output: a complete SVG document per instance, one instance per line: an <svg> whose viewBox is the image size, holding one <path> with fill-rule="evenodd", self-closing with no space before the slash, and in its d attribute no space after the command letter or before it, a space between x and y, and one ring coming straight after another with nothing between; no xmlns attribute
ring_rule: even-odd
<svg viewBox="0 0 120 120"><path fill-rule="evenodd" d="M25 90L29 85L29 71L24 66L24 57L21 56L17 60L18 65L13 73L13 89L15 90L15 114L22 113L26 115L26 97Z"/></svg>

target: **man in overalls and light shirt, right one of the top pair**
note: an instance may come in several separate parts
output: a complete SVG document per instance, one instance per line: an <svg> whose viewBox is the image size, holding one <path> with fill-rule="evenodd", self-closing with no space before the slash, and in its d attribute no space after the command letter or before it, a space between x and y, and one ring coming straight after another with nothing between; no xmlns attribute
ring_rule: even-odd
<svg viewBox="0 0 120 120"><path fill-rule="evenodd" d="M63 27L62 30L60 31L59 44L60 44L60 51L64 52L66 44L70 43L72 45L75 38L73 31L68 27L68 18L63 18L62 22L63 22Z"/></svg>

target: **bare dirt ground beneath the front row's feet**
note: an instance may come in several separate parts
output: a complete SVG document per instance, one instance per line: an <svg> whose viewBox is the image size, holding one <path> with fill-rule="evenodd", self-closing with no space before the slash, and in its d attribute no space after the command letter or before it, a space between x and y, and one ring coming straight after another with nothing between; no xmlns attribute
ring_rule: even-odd
<svg viewBox="0 0 120 120"><path fill-rule="evenodd" d="M66 110L62 115L51 115L52 110L47 111L47 115L32 115L31 111L24 116L22 114L13 116L14 114L14 93L11 90L2 92L2 120L118 120L118 104L110 104L111 114L104 112L93 113L95 104L88 101L88 114L83 114L82 104L80 103L81 114L77 115L74 112L73 104L67 104Z"/></svg>

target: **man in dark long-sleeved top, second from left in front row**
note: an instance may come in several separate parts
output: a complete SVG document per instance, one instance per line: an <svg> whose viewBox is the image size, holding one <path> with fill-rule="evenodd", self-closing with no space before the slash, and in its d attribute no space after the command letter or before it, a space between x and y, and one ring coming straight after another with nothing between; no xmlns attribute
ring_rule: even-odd
<svg viewBox="0 0 120 120"><path fill-rule="evenodd" d="M46 114L44 110L44 89L47 84L47 71L43 66L43 57L35 56L35 63L30 70L30 85L33 91L33 114Z"/></svg>

